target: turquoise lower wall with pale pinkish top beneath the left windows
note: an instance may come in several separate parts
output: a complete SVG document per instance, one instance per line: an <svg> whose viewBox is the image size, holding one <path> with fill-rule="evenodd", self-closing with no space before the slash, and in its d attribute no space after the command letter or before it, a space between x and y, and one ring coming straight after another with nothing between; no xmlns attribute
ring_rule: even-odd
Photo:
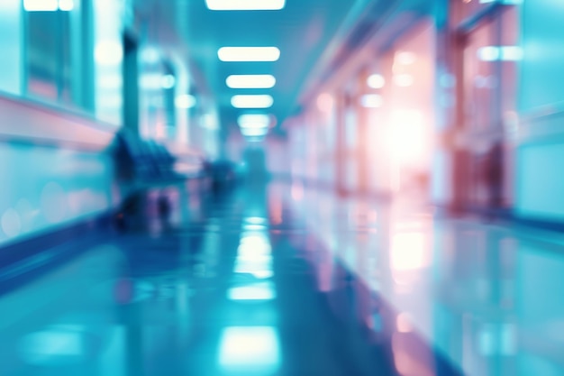
<svg viewBox="0 0 564 376"><path fill-rule="evenodd" d="M0 96L0 246L114 203L111 128Z"/></svg>

